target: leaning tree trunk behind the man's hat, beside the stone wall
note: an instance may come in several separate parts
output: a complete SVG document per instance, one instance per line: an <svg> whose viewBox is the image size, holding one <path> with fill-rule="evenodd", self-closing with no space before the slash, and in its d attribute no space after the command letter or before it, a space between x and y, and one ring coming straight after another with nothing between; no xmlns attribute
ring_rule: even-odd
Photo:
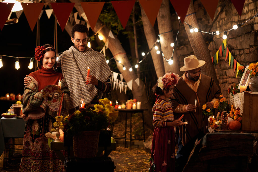
<svg viewBox="0 0 258 172"><path fill-rule="evenodd" d="M195 11L193 9L193 1L191 1L187 12L187 15L188 14L191 14L191 15L188 15L184 19L184 21L187 22L189 25L191 25L193 28L200 28L197 23L196 14L192 14L194 12ZM193 52L195 53L195 56L197 57L198 60L204 60L206 62L206 64L201 67L202 69L201 73L204 73L205 75L210 76L220 89L219 80L217 79L217 75L211 60L211 55L204 41L202 33L201 32L191 33L189 26L186 23L184 23L184 27L186 29L186 33L188 35L188 38L192 46Z"/></svg>

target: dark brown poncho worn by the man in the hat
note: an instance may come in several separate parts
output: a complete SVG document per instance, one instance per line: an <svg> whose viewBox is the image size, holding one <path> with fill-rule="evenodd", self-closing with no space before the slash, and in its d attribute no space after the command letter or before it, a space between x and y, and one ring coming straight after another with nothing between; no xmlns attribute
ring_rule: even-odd
<svg viewBox="0 0 258 172"><path fill-rule="evenodd" d="M180 136L182 144L185 145L198 133L207 132L208 116L204 116L202 113L203 104L210 102L214 98L220 99L220 94L221 92L214 80L207 75L201 74L200 84L196 93L185 83L182 77L178 80L178 84L174 87L169 101L172 108L175 109L179 104L194 104L197 96L200 104L197 103L196 112L174 113L174 119L178 119L184 114L182 121L188 122L186 125L176 127L176 143L178 136Z"/></svg>

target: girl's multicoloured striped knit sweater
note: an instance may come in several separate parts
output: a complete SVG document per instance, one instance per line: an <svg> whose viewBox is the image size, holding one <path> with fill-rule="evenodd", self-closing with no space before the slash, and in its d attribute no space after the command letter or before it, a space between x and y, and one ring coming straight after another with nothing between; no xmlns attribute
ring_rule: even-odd
<svg viewBox="0 0 258 172"><path fill-rule="evenodd" d="M166 127L167 121L174 121L171 104L164 99L157 99L157 102L152 108L152 114L152 124L154 127Z"/></svg>

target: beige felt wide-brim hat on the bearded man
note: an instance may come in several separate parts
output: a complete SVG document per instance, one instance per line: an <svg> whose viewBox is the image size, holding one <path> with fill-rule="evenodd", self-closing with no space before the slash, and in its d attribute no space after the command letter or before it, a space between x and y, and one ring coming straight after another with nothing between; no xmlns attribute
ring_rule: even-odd
<svg viewBox="0 0 258 172"><path fill-rule="evenodd" d="M184 58L184 66L180 68L180 71L189 71L197 69L205 64L205 61L198 60L195 55L190 55Z"/></svg>

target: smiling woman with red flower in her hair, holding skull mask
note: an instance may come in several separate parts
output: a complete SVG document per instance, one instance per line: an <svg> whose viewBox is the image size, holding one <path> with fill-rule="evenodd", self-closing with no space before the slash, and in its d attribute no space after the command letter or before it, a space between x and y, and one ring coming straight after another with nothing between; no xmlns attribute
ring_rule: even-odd
<svg viewBox="0 0 258 172"><path fill-rule="evenodd" d="M65 171L62 161L49 148L45 133L50 132L57 112L52 112L43 98L47 85L58 85L62 73L55 72L56 51L50 44L35 49L38 70L29 74L24 88L23 118L26 120L20 171ZM69 92L65 80L61 81L63 97L61 114L68 114ZM63 151L63 154L66 154Z"/></svg>

